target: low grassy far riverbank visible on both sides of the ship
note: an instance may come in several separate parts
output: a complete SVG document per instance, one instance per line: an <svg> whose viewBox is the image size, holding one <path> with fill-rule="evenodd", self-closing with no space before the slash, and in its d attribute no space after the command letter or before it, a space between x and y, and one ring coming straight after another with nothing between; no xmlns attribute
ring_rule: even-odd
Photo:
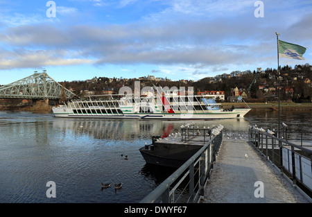
<svg viewBox="0 0 312 217"><path fill-rule="evenodd" d="M249 107L252 110L279 110L279 103L221 103L221 108ZM37 101L35 105L0 105L1 111L29 111L29 112L51 112L52 105L46 101ZM280 102L280 110L312 110L312 103Z"/></svg>

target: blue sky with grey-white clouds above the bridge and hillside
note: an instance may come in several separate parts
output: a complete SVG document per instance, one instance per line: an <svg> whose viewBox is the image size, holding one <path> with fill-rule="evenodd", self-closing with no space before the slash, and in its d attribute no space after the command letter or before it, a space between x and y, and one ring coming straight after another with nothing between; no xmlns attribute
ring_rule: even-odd
<svg viewBox="0 0 312 217"><path fill-rule="evenodd" d="M276 32L279 40L307 48L305 60L279 58L279 65L312 64L311 0L53 3L0 0L0 85L43 69L58 82L148 75L199 80L276 69Z"/></svg>

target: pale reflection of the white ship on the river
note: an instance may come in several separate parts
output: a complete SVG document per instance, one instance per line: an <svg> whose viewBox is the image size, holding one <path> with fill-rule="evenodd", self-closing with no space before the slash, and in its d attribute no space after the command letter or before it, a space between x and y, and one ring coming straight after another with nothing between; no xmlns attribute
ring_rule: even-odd
<svg viewBox="0 0 312 217"><path fill-rule="evenodd" d="M166 127L173 125L172 132L180 132L180 126L194 122L196 126L225 125L228 130L248 129L249 121L245 119L227 119L214 121L162 121L162 120L121 120L121 119L55 119L53 128L71 130L75 134L87 134L96 139L128 139L148 138L162 135Z"/></svg>

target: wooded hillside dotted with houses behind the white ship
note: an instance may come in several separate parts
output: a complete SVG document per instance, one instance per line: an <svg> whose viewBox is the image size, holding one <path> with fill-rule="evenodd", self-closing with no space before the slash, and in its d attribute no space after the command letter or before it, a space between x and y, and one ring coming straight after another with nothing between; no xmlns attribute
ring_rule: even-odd
<svg viewBox="0 0 312 217"><path fill-rule="evenodd" d="M254 81L254 78L257 80ZM278 79L279 78L279 79ZM194 93L203 91L224 91L225 101L232 96L233 89L238 87L240 92L245 92L246 101L270 101L276 99L277 89L280 87L282 101L311 102L312 88L312 66L310 64L295 65L295 68L288 65L277 69L265 69L260 71L232 71L215 77L202 78L196 82L191 80L158 80L147 77L137 78L107 78L99 77L91 80L64 81L61 84L78 96L101 95L105 90L118 93L123 86L134 89L135 81L139 80L142 87L193 87ZM254 83L253 83L254 81ZM278 84L279 81L279 84Z"/></svg>

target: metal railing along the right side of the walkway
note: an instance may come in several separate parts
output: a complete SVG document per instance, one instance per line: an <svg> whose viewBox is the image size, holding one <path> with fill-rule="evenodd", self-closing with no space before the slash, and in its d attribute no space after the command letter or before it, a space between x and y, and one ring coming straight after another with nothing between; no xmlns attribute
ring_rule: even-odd
<svg viewBox="0 0 312 217"><path fill-rule="evenodd" d="M250 128L248 140L310 197L312 195L311 149Z"/></svg>

